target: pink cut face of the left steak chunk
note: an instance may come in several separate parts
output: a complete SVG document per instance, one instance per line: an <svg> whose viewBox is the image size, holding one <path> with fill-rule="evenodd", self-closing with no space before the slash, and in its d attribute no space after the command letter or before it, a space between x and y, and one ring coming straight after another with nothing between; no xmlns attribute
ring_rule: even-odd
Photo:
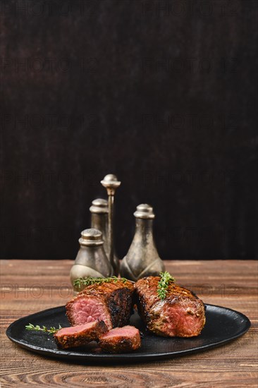
<svg viewBox="0 0 258 388"><path fill-rule="evenodd" d="M111 319L105 306L97 298L87 298L83 296L78 298L71 307L74 325L83 325L85 323L103 320L106 326L111 328Z"/></svg>

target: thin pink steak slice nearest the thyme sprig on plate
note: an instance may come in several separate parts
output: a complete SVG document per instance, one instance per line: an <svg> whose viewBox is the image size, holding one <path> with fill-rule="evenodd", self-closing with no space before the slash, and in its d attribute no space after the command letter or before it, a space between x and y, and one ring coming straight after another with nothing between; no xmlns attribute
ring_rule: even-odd
<svg viewBox="0 0 258 388"><path fill-rule="evenodd" d="M56 334L54 339L56 345L61 349L83 346L90 341L97 341L99 337L108 331L103 321L94 321L72 327L63 327Z"/></svg>

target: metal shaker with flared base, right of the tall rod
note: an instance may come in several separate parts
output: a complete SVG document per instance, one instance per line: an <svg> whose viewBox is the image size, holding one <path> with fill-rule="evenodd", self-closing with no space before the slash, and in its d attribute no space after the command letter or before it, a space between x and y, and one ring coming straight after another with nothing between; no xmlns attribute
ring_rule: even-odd
<svg viewBox="0 0 258 388"><path fill-rule="evenodd" d="M154 243L152 228L155 215L152 207L139 205L134 216L135 236L121 262L121 277L137 281L142 277L158 276L159 272L164 272L165 267Z"/></svg>

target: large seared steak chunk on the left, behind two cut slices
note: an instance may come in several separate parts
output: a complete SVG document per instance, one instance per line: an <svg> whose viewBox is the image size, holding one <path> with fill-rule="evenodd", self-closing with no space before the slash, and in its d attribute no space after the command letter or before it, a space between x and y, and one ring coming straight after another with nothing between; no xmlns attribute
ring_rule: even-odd
<svg viewBox="0 0 258 388"><path fill-rule="evenodd" d="M66 315L71 325L103 320L109 329L128 323L134 287L130 281L114 280L92 284L66 303Z"/></svg>

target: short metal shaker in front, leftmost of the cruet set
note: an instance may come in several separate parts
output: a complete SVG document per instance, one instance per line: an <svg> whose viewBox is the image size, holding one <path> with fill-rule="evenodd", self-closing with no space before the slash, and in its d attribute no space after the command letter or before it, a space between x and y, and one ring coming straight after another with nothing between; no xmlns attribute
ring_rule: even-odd
<svg viewBox="0 0 258 388"><path fill-rule="evenodd" d="M102 232L98 229L85 229L79 238L80 250L73 267L70 269L70 281L80 277L111 277L113 268L103 248ZM80 291L75 289L74 291Z"/></svg>

